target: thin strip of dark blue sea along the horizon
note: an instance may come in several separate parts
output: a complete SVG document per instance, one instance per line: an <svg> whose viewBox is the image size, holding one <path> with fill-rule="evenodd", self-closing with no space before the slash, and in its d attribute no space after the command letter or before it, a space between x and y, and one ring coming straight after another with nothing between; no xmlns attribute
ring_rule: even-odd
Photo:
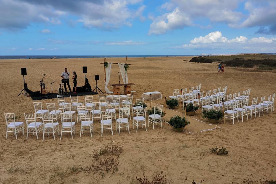
<svg viewBox="0 0 276 184"><path fill-rule="evenodd" d="M127 57L180 57L198 55L128 55ZM8 59L69 59L69 58L126 57L125 55L0 55L0 60Z"/></svg>

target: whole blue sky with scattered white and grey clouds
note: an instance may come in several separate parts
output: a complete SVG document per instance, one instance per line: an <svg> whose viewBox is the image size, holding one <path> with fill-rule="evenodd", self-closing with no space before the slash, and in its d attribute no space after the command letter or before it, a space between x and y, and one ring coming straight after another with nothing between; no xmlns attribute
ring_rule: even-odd
<svg viewBox="0 0 276 184"><path fill-rule="evenodd" d="M275 0L0 0L0 55L275 53L275 34Z"/></svg>

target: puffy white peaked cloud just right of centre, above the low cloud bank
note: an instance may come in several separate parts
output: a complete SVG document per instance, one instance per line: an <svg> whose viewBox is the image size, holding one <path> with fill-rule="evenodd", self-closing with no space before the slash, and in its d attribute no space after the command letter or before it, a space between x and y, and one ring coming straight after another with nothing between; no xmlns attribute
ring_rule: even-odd
<svg viewBox="0 0 276 184"><path fill-rule="evenodd" d="M179 8L175 8L173 12L157 17L150 24L148 34L164 34L167 30L179 29L191 25L192 21L189 16L181 12Z"/></svg>

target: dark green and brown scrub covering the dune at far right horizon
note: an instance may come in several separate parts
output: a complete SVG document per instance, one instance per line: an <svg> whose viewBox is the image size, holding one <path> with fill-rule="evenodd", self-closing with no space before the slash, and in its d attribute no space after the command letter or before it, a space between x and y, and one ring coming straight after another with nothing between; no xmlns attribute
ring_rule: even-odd
<svg viewBox="0 0 276 184"><path fill-rule="evenodd" d="M253 68L258 66L259 70L276 69L276 55L267 54L199 56L193 57L189 62L212 63L217 61L231 67Z"/></svg>

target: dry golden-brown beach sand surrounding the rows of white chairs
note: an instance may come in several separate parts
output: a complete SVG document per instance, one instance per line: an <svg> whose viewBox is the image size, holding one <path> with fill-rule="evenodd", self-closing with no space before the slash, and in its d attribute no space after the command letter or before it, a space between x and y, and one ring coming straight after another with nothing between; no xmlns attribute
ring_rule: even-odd
<svg viewBox="0 0 276 184"><path fill-rule="evenodd" d="M177 58L128 58L130 69L129 82L135 83L134 101L144 92L160 91L164 97L172 94L173 89L196 86L202 83L202 90L210 90L228 85L227 93L244 91L251 88L252 97L267 96L276 91L275 73L253 72L225 68L225 73L218 73L216 63L198 64L189 63L189 57ZM108 58L108 62L124 62L124 58ZM99 88L104 90L103 58L87 59L32 59L32 60L0 60L0 183L49 183L53 168L60 166L64 170L73 165L87 166L92 164L90 154L108 143L124 144L124 151L119 157L118 172L114 175L85 174L83 172L66 177L64 183L135 183L135 177L145 176L152 178L162 170L173 183L191 183L193 179L203 183L243 183L243 179L252 173L256 179L265 177L276 179L276 116L275 112L261 118L235 123L220 122L220 129L203 133L177 133L169 125L160 125L154 130L152 127L146 132L139 128L138 133L131 129L128 134L122 129L120 136L115 131L104 131L100 134L100 126L96 120L94 134L91 138L85 133L79 138L80 127L77 126L76 135L71 139L69 133L62 140L53 140L53 136L46 136L42 141L30 135L19 133L18 140L9 134L5 139L4 112L15 112L20 115L19 120L25 122L24 113L33 113L33 101L30 97L18 93L23 88L23 77L20 68L27 68L25 81L29 89L39 91L39 82L47 74L45 83L51 91L49 83L53 84L57 92L60 83L60 74L64 67L70 74L78 74L78 86L84 84L82 66L87 66L87 78L95 86L94 75L100 75ZM118 83L119 68L112 66L110 84ZM71 87L73 86L72 80ZM97 95L94 95L97 99ZM69 98L66 98L69 101ZM84 101L84 96L79 97ZM41 100L45 103L55 102L57 99ZM164 99L154 103L163 104ZM179 112L181 108L176 109ZM189 119L189 117L188 117ZM189 125L188 125L189 126ZM132 128L132 125L130 126ZM26 126L25 126L26 129ZM218 156L208 152L212 147L227 147L228 156ZM14 172L7 169L14 168ZM62 183L62 181L57 181Z"/></svg>

